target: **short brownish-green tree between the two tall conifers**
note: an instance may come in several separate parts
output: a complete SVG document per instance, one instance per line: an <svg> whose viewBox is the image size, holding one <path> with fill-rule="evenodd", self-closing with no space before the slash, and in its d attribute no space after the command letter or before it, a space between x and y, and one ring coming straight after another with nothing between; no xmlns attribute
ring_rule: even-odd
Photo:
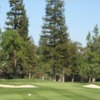
<svg viewBox="0 0 100 100"><path fill-rule="evenodd" d="M27 48L25 49L25 63L27 62L26 74L29 75L30 79L32 75L35 73L36 68L36 47L34 45L34 41L32 38L26 41L25 48Z"/></svg>

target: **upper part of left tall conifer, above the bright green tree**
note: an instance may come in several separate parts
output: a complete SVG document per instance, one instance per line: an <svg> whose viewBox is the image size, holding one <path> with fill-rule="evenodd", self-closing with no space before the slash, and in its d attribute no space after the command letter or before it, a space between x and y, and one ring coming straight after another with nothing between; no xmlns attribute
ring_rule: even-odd
<svg viewBox="0 0 100 100"><path fill-rule="evenodd" d="M7 13L6 29L17 30L23 39L28 38L28 18L23 0L9 0L11 10Z"/></svg>

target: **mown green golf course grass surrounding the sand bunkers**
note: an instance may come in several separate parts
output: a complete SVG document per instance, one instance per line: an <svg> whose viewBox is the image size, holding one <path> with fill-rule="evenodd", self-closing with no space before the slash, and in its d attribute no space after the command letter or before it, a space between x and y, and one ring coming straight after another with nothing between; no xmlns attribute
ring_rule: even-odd
<svg viewBox="0 0 100 100"><path fill-rule="evenodd" d="M0 100L100 100L100 89L82 87L84 83L40 80L2 80L0 84L33 84L38 88L0 88ZM100 84L100 83L97 83ZM31 93L31 96L28 96Z"/></svg>

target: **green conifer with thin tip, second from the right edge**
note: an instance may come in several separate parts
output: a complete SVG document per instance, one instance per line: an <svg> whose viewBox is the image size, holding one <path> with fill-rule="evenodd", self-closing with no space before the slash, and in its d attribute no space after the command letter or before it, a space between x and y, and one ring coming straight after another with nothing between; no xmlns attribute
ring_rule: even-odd
<svg viewBox="0 0 100 100"><path fill-rule="evenodd" d="M80 75L84 79L88 79L89 82L91 82L91 75L92 75L92 70L91 70L91 45L92 45L92 37L91 33L88 32L88 35L86 37L87 40L87 47L83 49L83 53L80 54L80 65L79 65L79 70L80 70Z"/></svg>

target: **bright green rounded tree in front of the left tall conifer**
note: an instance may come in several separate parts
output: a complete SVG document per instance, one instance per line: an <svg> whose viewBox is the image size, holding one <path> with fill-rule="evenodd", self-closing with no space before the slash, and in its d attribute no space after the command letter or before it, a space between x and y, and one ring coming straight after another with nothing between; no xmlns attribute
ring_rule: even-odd
<svg viewBox="0 0 100 100"><path fill-rule="evenodd" d="M15 78L21 72L22 66L19 66L18 62L19 58L23 56L24 41L18 32L8 30L2 33L2 41L0 44L2 46L2 71L9 78Z"/></svg>

